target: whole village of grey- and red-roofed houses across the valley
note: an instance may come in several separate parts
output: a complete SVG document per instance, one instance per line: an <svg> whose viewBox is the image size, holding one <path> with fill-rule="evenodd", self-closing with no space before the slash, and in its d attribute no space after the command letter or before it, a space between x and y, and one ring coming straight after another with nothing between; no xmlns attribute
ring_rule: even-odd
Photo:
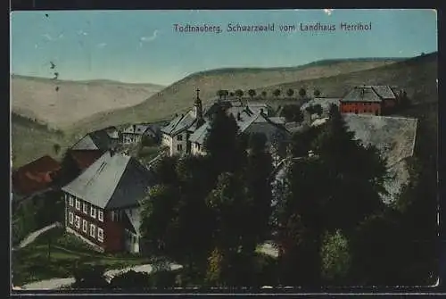
<svg viewBox="0 0 446 299"><path fill-rule="evenodd" d="M285 105L277 105L281 94L286 95L282 96ZM386 158L393 178L385 183L388 192L382 200L392 203L409 178L404 160L414 153L417 119L397 114L408 101L401 88L364 85L340 97L323 97L319 91L310 96L299 91L294 96L293 90L279 90L268 96L265 92L256 95L253 89L219 90L203 104L197 88L191 95L191 109L172 120L90 132L67 150L62 162L45 155L14 170L12 220L16 218L17 224L12 223L12 233L18 236L12 236L13 243L19 245L31 233L15 228L20 217L14 214L32 203L52 210L45 213L46 225L57 222L62 231L99 254L144 255L140 203L158 184L154 169L164 157L206 155L206 137L218 107L235 119L239 133L266 137L274 167L273 190L283 183L289 161L301 158L277 145L286 147L294 133L323 126L335 107L355 137L363 145L376 146ZM276 108L271 103L276 103ZM311 151L307 153L311 155ZM272 206L280 196L273 191ZM42 203L45 201L50 203ZM280 250L273 243L266 241L260 250L277 257Z"/></svg>

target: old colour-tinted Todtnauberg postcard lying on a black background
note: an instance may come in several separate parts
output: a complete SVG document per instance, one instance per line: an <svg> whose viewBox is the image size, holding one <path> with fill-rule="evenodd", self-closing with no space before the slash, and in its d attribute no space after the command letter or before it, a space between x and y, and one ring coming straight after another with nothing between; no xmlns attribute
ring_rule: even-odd
<svg viewBox="0 0 446 299"><path fill-rule="evenodd" d="M435 10L11 27L14 290L438 284Z"/></svg>

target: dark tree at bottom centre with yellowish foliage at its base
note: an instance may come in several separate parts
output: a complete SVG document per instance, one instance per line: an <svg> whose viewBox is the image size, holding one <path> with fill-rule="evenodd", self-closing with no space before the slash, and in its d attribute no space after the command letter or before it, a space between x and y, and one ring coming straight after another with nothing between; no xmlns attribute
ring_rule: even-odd
<svg viewBox="0 0 446 299"><path fill-rule="evenodd" d="M251 260L259 236L252 229L253 225L246 223L255 206L252 196L240 175L225 172L219 176L217 186L207 196L206 203L217 221L213 235L214 251L208 262L208 281L214 285L239 286L241 279L242 283L250 280L240 278L237 273L252 273L241 260Z"/></svg>

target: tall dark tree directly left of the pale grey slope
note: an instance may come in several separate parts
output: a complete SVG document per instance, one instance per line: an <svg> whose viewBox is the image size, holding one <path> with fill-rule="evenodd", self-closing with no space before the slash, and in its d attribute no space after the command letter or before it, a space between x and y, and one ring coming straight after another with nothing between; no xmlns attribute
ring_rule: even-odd
<svg viewBox="0 0 446 299"><path fill-rule="evenodd" d="M376 147L363 146L354 139L335 105L312 147L330 177L326 182L326 190L330 190L326 203L330 229L351 230L360 220L383 208L380 195L386 192L386 161Z"/></svg>

